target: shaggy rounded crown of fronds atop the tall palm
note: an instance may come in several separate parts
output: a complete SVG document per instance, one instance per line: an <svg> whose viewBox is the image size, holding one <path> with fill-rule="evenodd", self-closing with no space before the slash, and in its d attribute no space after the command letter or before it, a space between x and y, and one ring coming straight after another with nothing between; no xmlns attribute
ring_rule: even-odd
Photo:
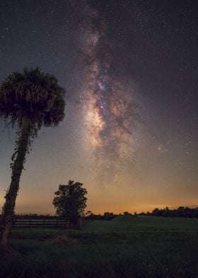
<svg viewBox="0 0 198 278"><path fill-rule="evenodd" d="M0 118L19 127L24 121L37 129L57 126L64 118L64 94L57 79L38 67L13 72L1 84Z"/></svg>

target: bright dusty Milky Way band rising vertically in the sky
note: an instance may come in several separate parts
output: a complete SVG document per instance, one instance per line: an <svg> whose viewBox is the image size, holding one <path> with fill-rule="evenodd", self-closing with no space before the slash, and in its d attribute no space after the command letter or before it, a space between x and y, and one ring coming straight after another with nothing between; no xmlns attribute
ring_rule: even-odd
<svg viewBox="0 0 198 278"><path fill-rule="evenodd" d="M86 137L101 175L117 179L124 165L132 160L137 107L134 87L124 77L112 73L112 41L108 26L97 11L86 9L83 26L84 69L83 116ZM105 52L103 51L105 48ZM119 66L119 65L118 65Z"/></svg>

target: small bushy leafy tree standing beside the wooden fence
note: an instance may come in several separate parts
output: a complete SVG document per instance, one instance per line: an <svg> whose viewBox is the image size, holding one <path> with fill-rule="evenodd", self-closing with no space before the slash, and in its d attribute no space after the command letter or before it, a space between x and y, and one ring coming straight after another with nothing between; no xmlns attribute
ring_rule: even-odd
<svg viewBox="0 0 198 278"><path fill-rule="evenodd" d="M57 216L62 216L71 223L77 223L86 208L86 194L87 190L80 182L69 180L66 185L60 184L53 200Z"/></svg>

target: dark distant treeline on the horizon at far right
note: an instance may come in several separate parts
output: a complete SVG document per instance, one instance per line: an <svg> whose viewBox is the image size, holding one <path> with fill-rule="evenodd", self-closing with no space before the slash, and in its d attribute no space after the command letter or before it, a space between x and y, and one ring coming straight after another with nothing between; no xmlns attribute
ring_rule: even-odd
<svg viewBox="0 0 198 278"><path fill-rule="evenodd" d="M136 213L135 213L136 214ZM155 208L152 212L147 211L139 213L144 216L164 216L164 217L196 217L198 218L198 207L188 208L187 206L179 206L176 209L166 208Z"/></svg>

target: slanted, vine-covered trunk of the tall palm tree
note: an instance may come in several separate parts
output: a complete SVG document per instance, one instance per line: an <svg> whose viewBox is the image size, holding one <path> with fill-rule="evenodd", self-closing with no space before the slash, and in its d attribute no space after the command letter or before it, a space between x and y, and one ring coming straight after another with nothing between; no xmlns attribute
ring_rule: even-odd
<svg viewBox="0 0 198 278"><path fill-rule="evenodd" d="M24 123L21 130L21 136L18 140L16 160L14 160L13 162L11 185L10 187L8 187L8 190L6 192L6 201L1 216L0 247L4 250L10 249L8 238L11 233L16 196L19 189L19 181L21 178L21 172L23 170L23 164L25 162L25 153L28 150L29 138L30 126L28 125L28 123Z"/></svg>

